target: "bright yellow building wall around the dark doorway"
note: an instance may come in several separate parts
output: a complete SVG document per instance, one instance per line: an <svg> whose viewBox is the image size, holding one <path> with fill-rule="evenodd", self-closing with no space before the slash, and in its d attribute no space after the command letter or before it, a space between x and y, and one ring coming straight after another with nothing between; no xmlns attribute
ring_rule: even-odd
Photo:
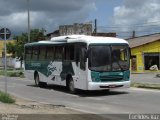
<svg viewBox="0 0 160 120"><path fill-rule="evenodd" d="M148 43L142 46L138 46L135 48L131 48L131 55L136 56L136 71L135 72L145 72L144 53L154 53L154 52L160 53L160 40L152 42L152 43Z"/></svg>

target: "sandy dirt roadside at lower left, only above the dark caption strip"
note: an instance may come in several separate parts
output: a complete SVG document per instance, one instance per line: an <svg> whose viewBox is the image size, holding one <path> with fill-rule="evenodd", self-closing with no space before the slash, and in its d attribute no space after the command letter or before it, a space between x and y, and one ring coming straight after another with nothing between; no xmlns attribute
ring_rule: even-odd
<svg viewBox="0 0 160 120"><path fill-rule="evenodd" d="M14 97L15 98L15 97ZM16 103L4 104L0 102L0 113L13 114L78 114L80 112L70 110L62 105L42 104L35 101L28 101L15 98Z"/></svg>

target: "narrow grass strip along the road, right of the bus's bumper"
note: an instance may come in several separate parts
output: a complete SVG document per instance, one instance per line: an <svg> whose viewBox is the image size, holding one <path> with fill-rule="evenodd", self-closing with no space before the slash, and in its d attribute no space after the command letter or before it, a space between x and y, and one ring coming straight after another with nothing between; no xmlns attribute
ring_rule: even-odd
<svg viewBox="0 0 160 120"><path fill-rule="evenodd" d="M148 84L148 83L131 83L131 87L157 89L160 90L160 84Z"/></svg>

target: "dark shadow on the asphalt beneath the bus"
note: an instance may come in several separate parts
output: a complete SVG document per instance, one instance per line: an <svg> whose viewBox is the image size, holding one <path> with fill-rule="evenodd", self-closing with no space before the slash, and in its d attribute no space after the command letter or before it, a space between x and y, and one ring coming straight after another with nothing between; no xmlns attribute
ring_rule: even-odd
<svg viewBox="0 0 160 120"><path fill-rule="evenodd" d="M36 85L27 85L30 87L37 87ZM37 87L38 88L38 87ZM41 87L41 89L46 90L54 90L58 92L63 92L66 94L71 94L66 87L64 86L58 86L58 85L47 85L45 87ZM114 96L114 95L123 95L123 94L129 94L129 92L126 91L116 91L116 90L77 90L74 95L77 95L79 97L97 97L97 96ZM73 94L71 94L73 95Z"/></svg>

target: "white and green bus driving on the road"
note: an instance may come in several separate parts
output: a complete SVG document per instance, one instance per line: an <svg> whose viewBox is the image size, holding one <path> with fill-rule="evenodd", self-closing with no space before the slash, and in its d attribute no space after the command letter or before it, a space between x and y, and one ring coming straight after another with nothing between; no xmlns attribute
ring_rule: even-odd
<svg viewBox="0 0 160 120"><path fill-rule="evenodd" d="M25 44L25 76L37 86L66 86L71 93L130 86L128 42L69 35Z"/></svg>

